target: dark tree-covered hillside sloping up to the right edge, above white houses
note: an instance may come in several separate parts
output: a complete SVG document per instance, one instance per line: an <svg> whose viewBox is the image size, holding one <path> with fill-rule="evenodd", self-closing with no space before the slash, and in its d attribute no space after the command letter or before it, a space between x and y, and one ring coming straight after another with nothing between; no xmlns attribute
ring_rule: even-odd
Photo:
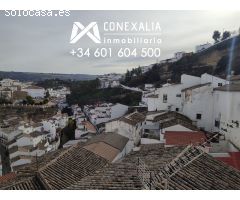
<svg viewBox="0 0 240 200"><path fill-rule="evenodd" d="M143 86L145 83L152 83L159 86L167 81L178 83L182 74L200 76L203 73L226 78L226 75L231 73L240 74L240 36L230 39L228 31L214 31L213 38L215 44L205 51L184 56L179 61L174 63L156 63L152 69L146 73L136 71L135 68L127 71L124 85L130 87ZM232 62L230 62L232 56Z"/></svg>

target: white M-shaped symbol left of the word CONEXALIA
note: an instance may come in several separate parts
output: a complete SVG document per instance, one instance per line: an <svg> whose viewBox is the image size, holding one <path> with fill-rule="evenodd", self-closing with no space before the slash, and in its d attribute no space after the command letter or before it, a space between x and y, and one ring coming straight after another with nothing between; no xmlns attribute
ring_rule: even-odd
<svg viewBox="0 0 240 200"><path fill-rule="evenodd" d="M91 29L93 30L93 33L90 32ZM79 32L79 30L80 30L80 32ZM97 22L91 22L86 27L84 27L80 22L74 22L73 28L72 28L72 34L71 34L71 38L70 38L70 43L75 44L84 35L87 35L95 43L101 43Z"/></svg>

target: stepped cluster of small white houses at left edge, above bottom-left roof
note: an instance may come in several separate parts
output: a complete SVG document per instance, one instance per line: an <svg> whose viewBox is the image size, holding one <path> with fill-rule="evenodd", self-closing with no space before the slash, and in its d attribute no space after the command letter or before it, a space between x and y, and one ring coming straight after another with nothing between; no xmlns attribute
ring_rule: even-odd
<svg viewBox="0 0 240 200"><path fill-rule="evenodd" d="M9 162L14 171L31 163L49 151L58 149L60 131L67 125L68 116L58 112L56 115L38 122L19 121L13 117L1 124L1 144L8 149Z"/></svg>

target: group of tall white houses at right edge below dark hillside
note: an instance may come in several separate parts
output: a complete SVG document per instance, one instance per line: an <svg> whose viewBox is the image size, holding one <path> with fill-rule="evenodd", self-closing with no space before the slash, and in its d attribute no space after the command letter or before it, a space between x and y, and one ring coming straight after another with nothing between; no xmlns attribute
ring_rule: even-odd
<svg viewBox="0 0 240 200"><path fill-rule="evenodd" d="M141 105L148 111L175 111L191 119L201 130L219 132L240 148L239 77L227 80L209 74L182 75L179 84L146 90Z"/></svg>

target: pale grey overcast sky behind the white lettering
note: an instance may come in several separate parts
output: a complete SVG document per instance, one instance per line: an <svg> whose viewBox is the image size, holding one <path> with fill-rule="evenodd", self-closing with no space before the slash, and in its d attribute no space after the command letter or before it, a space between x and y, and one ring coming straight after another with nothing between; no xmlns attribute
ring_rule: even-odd
<svg viewBox="0 0 240 200"><path fill-rule="evenodd" d="M92 21L98 24L105 21L159 22L162 28L162 44L158 60L162 60L172 57L174 52L194 51L198 44L212 43L214 30L221 32L238 30L240 12L71 11L68 17L7 17L1 12L0 70L81 74L124 73L127 69L156 62L156 58L73 57L69 54L73 48L69 40L75 21L80 21L85 26ZM76 44L78 47L92 49L101 47L90 41L86 35L84 38L81 43Z"/></svg>

